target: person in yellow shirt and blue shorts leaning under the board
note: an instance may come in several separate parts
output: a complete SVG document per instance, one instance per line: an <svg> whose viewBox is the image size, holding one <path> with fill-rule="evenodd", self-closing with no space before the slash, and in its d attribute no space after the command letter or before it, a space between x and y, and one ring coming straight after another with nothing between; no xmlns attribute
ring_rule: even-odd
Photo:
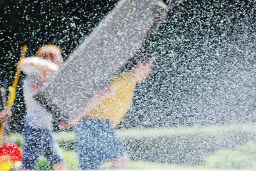
<svg viewBox="0 0 256 171"><path fill-rule="evenodd" d="M111 168L124 168L129 156L113 128L120 123L132 105L136 84L152 73L152 60L140 62L130 71L121 73L108 87L95 94L76 119L62 128L75 126L79 167L83 170L99 169L112 160Z"/></svg>

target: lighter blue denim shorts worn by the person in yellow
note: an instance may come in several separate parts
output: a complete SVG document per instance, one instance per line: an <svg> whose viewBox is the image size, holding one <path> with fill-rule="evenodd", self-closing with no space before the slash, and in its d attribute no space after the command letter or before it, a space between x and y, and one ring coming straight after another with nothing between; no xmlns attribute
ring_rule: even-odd
<svg viewBox="0 0 256 171"><path fill-rule="evenodd" d="M124 156L122 142L116 137L109 120L84 118L76 126L79 167L97 169L108 160Z"/></svg>

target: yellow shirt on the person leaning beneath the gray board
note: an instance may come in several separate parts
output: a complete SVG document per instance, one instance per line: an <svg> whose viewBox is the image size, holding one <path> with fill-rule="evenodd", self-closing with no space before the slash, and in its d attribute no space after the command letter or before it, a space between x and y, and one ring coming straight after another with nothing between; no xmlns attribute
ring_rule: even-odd
<svg viewBox="0 0 256 171"><path fill-rule="evenodd" d="M113 91L112 96L108 96L99 107L95 108L89 117L93 119L109 119L112 126L124 118L132 105L133 91L136 82L131 73L123 73L111 80L109 87Z"/></svg>

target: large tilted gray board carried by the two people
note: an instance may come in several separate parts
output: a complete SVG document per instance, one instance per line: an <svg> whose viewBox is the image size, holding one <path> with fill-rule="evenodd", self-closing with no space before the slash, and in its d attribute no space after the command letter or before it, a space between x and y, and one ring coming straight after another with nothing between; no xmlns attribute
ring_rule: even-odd
<svg viewBox="0 0 256 171"><path fill-rule="evenodd" d="M75 117L141 47L166 15L161 1L122 0L35 95L45 108Z"/></svg>

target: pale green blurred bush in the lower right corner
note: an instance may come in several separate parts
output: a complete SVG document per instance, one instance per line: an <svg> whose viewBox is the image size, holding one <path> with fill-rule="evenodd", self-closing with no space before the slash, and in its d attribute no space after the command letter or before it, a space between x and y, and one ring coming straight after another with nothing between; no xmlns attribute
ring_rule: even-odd
<svg viewBox="0 0 256 171"><path fill-rule="evenodd" d="M223 169L255 169L256 143L247 142L237 145L234 149L221 149L204 159L205 168Z"/></svg>

